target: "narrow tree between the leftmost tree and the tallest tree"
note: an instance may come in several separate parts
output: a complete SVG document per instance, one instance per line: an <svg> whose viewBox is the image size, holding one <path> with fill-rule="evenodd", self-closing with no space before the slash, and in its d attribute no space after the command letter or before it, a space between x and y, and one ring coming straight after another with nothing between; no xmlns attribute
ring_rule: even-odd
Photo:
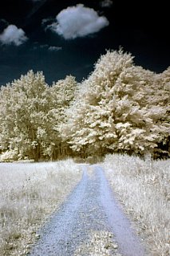
<svg viewBox="0 0 170 256"><path fill-rule="evenodd" d="M45 144L45 152L52 158L63 157L69 153L69 146L61 137L61 124L65 122L65 110L69 108L75 91L77 81L73 75L67 75L49 87L49 112L46 130L48 132L49 144Z"/></svg>

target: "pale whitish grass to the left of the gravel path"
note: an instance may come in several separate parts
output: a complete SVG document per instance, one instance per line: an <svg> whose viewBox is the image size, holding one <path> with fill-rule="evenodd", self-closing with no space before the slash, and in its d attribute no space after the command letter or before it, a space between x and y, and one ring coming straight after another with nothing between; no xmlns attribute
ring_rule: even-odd
<svg viewBox="0 0 170 256"><path fill-rule="evenodd" d="M0 163L0 255L26 255L40 226L80 180L71 159Z"/></svg>

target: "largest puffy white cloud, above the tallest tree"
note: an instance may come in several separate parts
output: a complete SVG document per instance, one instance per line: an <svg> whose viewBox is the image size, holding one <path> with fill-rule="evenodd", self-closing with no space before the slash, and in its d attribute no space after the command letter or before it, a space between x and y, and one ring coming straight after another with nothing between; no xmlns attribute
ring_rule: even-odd
<svg viewBox="0 0 170 256"><path fill-rule="evenodd" d="M56 19L57 22L53 22L48 28L65 39L84 37L109 25L105 16L98 16L95 10L82 4L61 10Z"/></svg>

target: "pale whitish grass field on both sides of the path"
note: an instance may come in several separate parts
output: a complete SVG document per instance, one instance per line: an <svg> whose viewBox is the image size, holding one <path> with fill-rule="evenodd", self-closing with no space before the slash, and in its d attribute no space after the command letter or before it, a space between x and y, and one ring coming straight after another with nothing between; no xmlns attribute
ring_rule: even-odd
<svg viewBox="0 0 170 256"><path fill-rule="evenodd" d="M148 246L149 256L170 255L170 160L109 154L100 162L117 201ZM89 167L90 170L90 167ZM0 163L0 255L24 256L81 180L72 159Z"/></svg>

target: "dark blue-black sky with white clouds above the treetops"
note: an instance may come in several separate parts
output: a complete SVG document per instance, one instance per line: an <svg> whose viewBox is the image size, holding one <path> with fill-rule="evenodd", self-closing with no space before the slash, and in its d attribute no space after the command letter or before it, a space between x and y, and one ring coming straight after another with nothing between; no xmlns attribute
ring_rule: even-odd
<svg viewBox="0 0 170 256"><path fill-rule="evenodd" d="M165 1L2 2L0 85L30 69L43 71L49 85L65 75L81 81L106 50L119 47L145 69L160 73L170 66L169 9Z"/></svg>

